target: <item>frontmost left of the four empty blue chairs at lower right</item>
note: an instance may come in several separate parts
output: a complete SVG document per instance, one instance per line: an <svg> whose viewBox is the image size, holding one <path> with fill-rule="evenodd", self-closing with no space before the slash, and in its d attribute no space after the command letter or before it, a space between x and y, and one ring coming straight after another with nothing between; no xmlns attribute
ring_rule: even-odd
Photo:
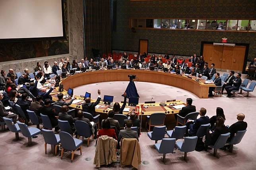
<svg viewBox="0 0 256 170"><path fill-rule="evenodd" d="M155 149L158 151L158 153L163 153L163 162L165 163L165 155L167 153L175 153L173 152L173 149L175 147L175 138L167 138L163 139L161 143L155 143Z"/></svg>

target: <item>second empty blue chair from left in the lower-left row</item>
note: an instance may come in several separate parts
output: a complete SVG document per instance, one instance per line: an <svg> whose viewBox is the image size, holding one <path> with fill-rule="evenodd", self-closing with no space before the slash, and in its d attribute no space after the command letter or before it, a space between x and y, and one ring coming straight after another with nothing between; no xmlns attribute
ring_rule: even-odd
<svg viewBox="0 0 256 170"><path fill-rule="evenodd" d="M28 145L32 144L32 137L36 136L41 133L41 130L34 127L27 127L25 123L21 123L17 121L17 124L19 125L20 131L23 134L23 136L27 137L29 142Z"/></svg>

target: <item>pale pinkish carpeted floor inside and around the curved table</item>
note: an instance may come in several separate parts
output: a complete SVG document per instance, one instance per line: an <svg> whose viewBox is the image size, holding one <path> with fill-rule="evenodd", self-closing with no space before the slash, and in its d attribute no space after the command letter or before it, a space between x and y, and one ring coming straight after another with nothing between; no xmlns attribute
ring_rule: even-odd
<svg viewBox="0 0 256 170"><path fill-rule="evenodd" d="M222 75L222 73L221 73ZM244 75L243 77L244 78ZM122 92L126 89L128 82L104 82L90 84L78 87L74 90L74 94L83 95L85 91L91 92L92 98L97 96L97 89L100 88L102 95L114 96L114 101L121 101ZM136 87L140 95L140 102L149 101L151 96L153 100L160 102L166 99L179 99L186 101L187 97L193 99L193 105L196 109L205 107L206 115L209 117L215 115L216 107L224 109L226 125L236 122L237 113L245 114L245 121L248 123L247 132L241 143L235 146L233 153L228 151L218 151L219 158L213 157L213 150L188 153L187 161L182 159L184 153L175 151L175 154L167 154L166 163L161 161L162 154L157 153L153 147L154 141L151 141L146 132L142 132L140 136L140 149L142 164L139 166L142 170L252 170L256 166L256 91L250 93L249 97L245 97L246 93L236 94L236 97L227 98L224 91L223 97L210 97L209 99L199 99L196 95L185 90L166 86L162 84L153 84L146 82L136 82ZM34 126L34 125L33 125ZM42 128L42 126L41 126ZM82 146L82 155L77 151L74 161L71 163L71 154L65 153L61 160L60 156L54 156L50 151L50 145L47 145L47 155L44 151L44 139L40 134L38 138L32 139L33 144L27 146L27 138L21 133L19 141L15 141L14 133L10 131L0 132L0 170L61 170L61 169L94 169L93 158L95 154L95 140L91 141L89 147L84 141ZM159 141L161 142L161 141ZM132 169L131 167L121 168L119 164L114 164L111 169ZM110 169L103 166L102 170Z"/></svg>

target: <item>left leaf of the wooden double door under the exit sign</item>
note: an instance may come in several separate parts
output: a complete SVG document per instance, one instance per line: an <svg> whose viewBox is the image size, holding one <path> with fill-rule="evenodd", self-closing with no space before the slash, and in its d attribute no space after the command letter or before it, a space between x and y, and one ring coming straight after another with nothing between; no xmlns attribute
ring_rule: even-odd
<svg viewBox="0 0 256 170"><path fill-rule="evenodd" d="M204 44L204 61L208 62L208 67L211 63L215 64L216 69L221 69L223 55L223 46L213 46L213 44Z"/></svg>

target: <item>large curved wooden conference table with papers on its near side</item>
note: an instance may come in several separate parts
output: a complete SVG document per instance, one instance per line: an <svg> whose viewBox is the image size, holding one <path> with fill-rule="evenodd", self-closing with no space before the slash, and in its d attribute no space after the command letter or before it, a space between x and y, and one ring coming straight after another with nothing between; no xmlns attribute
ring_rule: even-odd
<svg viewBox="0 0 256 170"><path fill-rule="evenodd" d="M61 83L64 87L64 91L62 92L64 95L67 94L68 88L75 88L78 86L82 86L85 84L97 83L97 82L109 82L109 81L128 81L129 74L136 75L135 81L141 82L153 82L159 84L166 84L169 86L175 86L178 88L182 88L193 94L196 94L200 98L208 98L209 87L215 87L214 84L205 84L204 81L196 81L193 78L188 78L187 76L172 74L172 73L164 73L157 71L149 71L149 70L100 70L100 71L89 71L85 73L78 73L72 76L68 76L64 78ZM56 101L58 94L58 88L54 89L51 93L52 99ZM82 97L75 96L76 99L73 101L70 107L76 109L82 109L82 104L85 102ZM175 98L174 98L175 99ZM68 102L70 99L67 99ZM95 99L91 99L91 101L95 101ZM167 118L165 122L174 122L174 114L177 114L180 108L177 108L178 105L186 105L183 101L172 101L166 102L167 106L160 106L160 103L152 103L145 104L139 103L139 105L143 104L145 107L142 107L143 115L151 115L152 113L166 113ZM170 106L169 104L174 104L175 106ZM120 103L120 105L122 105ZM126 109L130 109L129 111L124 111L123 114L127 115L132 109L135 107L126 105ZM108 105L105 105L102 101L99 103L98 107L95 108L95 111L98 114L101 114L101 119L107 117L107 114L110 110ZM140 107L141 113L141 107ZM169 118L168 118L169 117ZM169 119L169 120L168 120ZM143 122L145 121L145 117L143 118Z"/></svg>

